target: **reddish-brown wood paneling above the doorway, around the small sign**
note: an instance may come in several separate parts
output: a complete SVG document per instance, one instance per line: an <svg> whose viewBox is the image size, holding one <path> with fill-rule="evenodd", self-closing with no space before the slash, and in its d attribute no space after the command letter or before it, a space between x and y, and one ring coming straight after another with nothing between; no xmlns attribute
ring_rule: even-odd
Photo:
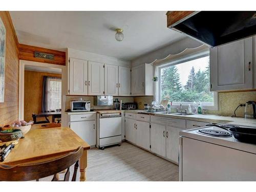
<svg viewBox="0 0 256 192"><path fill-rule="evenodd" d="M62 51L56 51L52 49L45 49L40 47L34 47L34 46L28 46L19 44L19 59L22 60L30 60L30 61L37 61L37 62L46 62L46 63L52 63L56 65L65 66L66 65L66 52ZM34 52L41 52L41 53L48 53L53 54L54 59L44 59L44 58L38 58L34 57Z"/></svg>

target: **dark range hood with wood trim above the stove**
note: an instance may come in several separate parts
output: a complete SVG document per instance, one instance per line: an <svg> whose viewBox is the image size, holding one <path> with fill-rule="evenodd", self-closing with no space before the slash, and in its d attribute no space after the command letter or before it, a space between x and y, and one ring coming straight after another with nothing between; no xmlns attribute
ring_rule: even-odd
<svg viewBox="0 0 256 192"><path fill-rule="evenodd" d="M211 47L256 34L256 11L168 11L167 27Z"/></svg>

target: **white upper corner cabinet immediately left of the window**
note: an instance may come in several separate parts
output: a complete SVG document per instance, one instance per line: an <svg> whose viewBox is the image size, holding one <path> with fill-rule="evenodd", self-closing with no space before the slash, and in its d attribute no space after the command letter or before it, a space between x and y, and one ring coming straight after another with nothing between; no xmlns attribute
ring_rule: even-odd
<svg viewBox="0 0 256 192"><path fill-rule="evenodd" d="M132 95L154 95L153 91L153 66L142 64L132 68Z"/></svg>

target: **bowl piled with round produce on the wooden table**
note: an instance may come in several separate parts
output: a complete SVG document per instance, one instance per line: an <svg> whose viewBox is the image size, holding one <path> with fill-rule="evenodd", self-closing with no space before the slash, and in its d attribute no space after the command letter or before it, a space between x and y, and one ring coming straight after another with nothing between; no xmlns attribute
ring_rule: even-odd
<svg viewBox="0 0 256 192"><path fill-rule="evenodd" d="M8 142L24 137L30 131L32 124L33 121L17 120L14 123L1 127L0 141Z"/></svg>

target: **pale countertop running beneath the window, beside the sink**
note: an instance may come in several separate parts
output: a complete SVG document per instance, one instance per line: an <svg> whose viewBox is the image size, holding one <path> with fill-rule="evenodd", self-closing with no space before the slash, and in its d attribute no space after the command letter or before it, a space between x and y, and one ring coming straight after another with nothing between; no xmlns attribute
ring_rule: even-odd
<svg viewBox="0 0 256 192"><path fill-rule="evenodd" d="M142 113L144 110L125 110L127 113ZM256 119L245 119L242 117L229 117L229 116L220 116L220 115L174 115L174 114L150 114L159 117L170 117L177 119L187 119L192 121L205 121L211 123L231 123L238 125L246 125L246 126L256 126Z"/></svg>

